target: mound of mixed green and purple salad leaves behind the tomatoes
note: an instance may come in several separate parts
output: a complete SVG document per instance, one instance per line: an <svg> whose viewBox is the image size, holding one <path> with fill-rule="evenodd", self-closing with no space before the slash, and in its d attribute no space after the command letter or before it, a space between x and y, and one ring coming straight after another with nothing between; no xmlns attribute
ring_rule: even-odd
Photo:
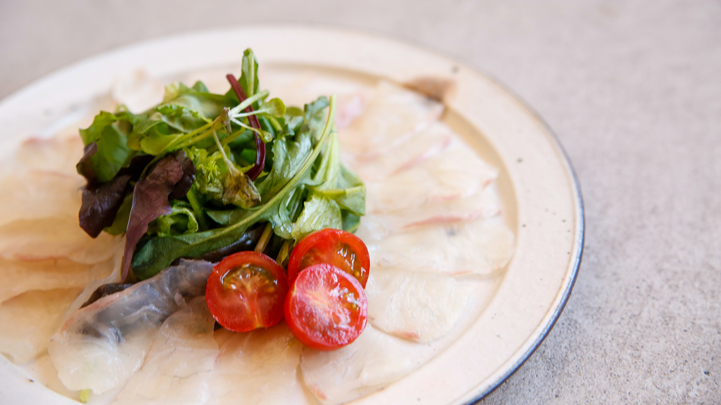
<svg viewBox="0 0 721 405"><path fill-rule="evenodd" d="M248 49L226 94L172 83L146 112L119 106L80 129L80 226L125 232L123 280L131 267L145 279L179 258L254 247L282 265L310 232L358 227L366 188L340 163L335 97L286 108L257 68Z"/></svg>

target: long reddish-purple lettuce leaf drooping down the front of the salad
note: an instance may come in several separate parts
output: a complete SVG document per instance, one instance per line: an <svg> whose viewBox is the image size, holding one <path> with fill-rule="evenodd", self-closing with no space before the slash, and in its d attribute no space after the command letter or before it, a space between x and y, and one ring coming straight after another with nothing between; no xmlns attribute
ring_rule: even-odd
<svg viewBox="0 0 721 405"><path fill-rule="evenodd" d="M148 231L148 224L161 215L172 213L172 206L168 202L171 194L185 195L190 188L185 186L185 173L183 172L183 168L188 167L188 162L190 162L190 167L193 167L192 161L182 151L167 155L155 165L148 176L141 178L136 183L133 191L133 207L128 219L128 230L125 232L123 281L131 268L133 250L141 237ZM193 173L195 173L194 167ZM192 184L193 181L191 180L190 183ZM183 189L185 189L184 192Z"/></svg>

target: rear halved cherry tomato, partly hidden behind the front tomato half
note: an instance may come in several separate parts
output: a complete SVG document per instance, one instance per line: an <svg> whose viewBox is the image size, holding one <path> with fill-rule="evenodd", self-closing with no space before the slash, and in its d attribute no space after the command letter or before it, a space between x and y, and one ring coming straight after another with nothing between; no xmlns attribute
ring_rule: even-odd
<svg viewBox="0 0 721 405"><path fill-rule="evenodd" d="M366 288L371 258L361 238L340 229L322 229L304 237L288 260L288 281L293 283L304 268L329 263L361 282Z"/></svg>

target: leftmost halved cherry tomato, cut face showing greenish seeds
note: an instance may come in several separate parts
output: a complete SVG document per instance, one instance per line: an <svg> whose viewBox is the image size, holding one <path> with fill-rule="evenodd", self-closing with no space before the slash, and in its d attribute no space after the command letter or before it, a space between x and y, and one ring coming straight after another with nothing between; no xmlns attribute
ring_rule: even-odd
<svg viewBox="0 0 721 405"><path fill-rule="evenodd" d="M283 319L288 276L275 260L252 250L229 255L213 267L205 301L213 318L234 332L271 327Z"/></svg>

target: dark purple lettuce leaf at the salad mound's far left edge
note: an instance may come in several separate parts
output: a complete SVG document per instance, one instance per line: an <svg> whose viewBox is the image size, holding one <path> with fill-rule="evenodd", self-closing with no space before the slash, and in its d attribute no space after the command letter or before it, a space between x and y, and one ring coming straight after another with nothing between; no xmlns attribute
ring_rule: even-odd
<svg viewBox="0 0 721 405"><path fill-rule="evenodd" d="M80 227L91 237L97 237L105 227L110 227L123 204L125 188L131 176L117 176L99 186L88 184L83 188L83 204L80 206Z"/></svg>

